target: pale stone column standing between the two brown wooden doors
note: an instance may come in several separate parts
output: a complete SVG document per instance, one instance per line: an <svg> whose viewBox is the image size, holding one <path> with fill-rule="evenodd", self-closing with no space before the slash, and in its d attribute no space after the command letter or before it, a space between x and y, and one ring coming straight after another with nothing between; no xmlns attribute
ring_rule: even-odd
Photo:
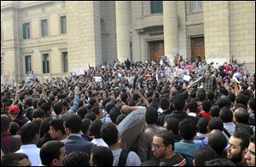
<svg viewBox="0 0 256 167"><path fill-rule="evenodd" d="M165 55L173 64L178 54L177 1L163 1Z"/></svg>

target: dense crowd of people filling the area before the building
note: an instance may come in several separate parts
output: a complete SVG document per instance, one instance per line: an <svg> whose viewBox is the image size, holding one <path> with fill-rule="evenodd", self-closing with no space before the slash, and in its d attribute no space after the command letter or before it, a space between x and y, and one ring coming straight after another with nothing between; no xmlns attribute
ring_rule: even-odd
<svg viewBox="0 0 256 167"><path fill-rule="evenodd" d="M1 165L255 166L255 73L200 57L173 64L115 60L1 83ZM143 127L127 147L118 125L138 108Z"/></svg>

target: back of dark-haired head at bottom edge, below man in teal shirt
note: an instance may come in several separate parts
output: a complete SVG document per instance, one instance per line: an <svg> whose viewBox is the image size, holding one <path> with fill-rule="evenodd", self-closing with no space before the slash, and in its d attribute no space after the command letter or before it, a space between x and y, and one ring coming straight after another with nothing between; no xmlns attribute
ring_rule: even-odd
<svg viewBox="0 0 256 167"><path fill-rule="evenodd" d="M212 150L211 147L200 147L199 149L195 150L193 164L194 166L205 166L206 161L214 158L218 158L218 155L214 152L214 150Z"/></svg>

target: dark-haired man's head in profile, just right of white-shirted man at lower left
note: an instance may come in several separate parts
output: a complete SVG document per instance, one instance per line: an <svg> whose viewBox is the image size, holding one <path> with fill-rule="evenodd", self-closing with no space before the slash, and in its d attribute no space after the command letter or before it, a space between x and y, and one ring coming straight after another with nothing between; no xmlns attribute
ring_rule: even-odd
<svg viewBox="0 0 256 167"><path fill-rule="evenodd" d="M62 137L66 135L63 120L61 118L52 119L49 122L49 135L53 140L57 141L60 141Z"/></svg>

